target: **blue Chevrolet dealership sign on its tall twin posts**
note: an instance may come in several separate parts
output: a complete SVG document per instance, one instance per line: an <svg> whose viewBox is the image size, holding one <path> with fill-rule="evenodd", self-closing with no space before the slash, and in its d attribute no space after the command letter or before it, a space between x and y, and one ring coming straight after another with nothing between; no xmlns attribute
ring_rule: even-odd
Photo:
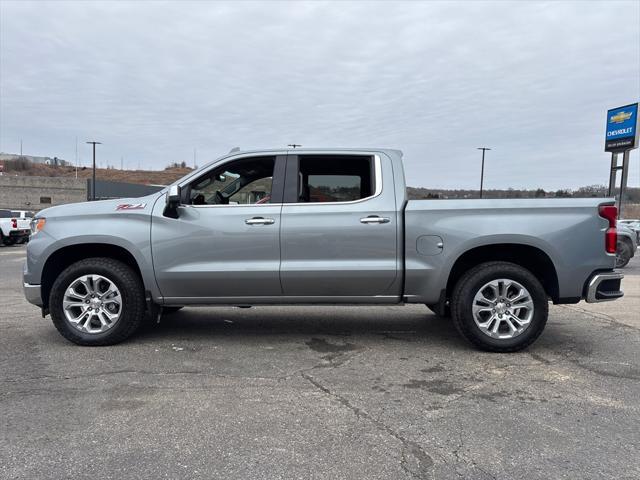
<svg viewBox="0 0 640 480"><path fill-rule="evenodd" d="M622 202L627 189L629 174L629 152L638 148L638 104L613 108L607 112L607 133L604 151L611 152L611 171L609 174L609 195L615 193L618 170L622 170L620 196L618 198L618 218L622 217ZM618 154L622 153L622 165L618 165Z"/></svg>

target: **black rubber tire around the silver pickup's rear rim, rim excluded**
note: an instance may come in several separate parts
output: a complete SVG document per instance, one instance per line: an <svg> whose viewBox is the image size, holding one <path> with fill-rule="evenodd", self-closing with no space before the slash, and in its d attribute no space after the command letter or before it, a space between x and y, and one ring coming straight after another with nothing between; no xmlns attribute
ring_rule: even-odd
<svg viewBox="0 0 640 480"><path fill-rule="evenodd" d="M473 318L472 306L476 293L492 280L506 278L525 287L533 302L533 316L528 327L509 339L492 338L485 334ZM549 315L547 294L540 281L527 269L509 262L482 263L456 284L451 299L453 322L460 334L476 347L490 352L517 352L531 345L544 330Z"/></svg>

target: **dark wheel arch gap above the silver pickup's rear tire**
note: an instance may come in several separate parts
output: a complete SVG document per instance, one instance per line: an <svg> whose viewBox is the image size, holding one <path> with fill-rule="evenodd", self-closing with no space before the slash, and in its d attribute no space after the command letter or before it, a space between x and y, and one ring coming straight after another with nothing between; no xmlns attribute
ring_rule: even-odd
<svg viewBox="0 0 640 480"><path fill-rule="evenodd" d="M446 297L450 298L458 280L466 271L485 262L511 262L529 270L554 301L560 299L558 274L549 255L542 249L521 243L495 243L471 248L462 253L449 272Z"/></svg>

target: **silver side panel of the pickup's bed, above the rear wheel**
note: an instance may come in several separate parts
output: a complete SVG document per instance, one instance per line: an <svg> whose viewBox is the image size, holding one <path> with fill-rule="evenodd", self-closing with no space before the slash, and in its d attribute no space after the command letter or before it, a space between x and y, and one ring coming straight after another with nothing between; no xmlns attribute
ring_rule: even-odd
<svg viewBox="0 0 640 480"><path fill-rule="evenodd" d="M404 210L405 295L437 302L443 276L464 252L517 243L543 252L555 265L558 300L579 299L591 273L615 265L615 256L603 248L608 223L598 215L599 205L613 203L611 198L410 200ZM598 231L602 235L594 235Z"/></svg>

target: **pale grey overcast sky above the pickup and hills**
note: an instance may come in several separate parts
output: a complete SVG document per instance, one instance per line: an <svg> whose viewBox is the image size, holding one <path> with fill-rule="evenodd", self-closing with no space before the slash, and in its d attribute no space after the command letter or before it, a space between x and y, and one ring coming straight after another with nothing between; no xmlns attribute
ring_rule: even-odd
<svg viewBox="0 0 640 480"><path fill-rule="evenodd" d="M640 2L0 0L0 151L119 168L239 146L404 151L407 183L607 183ZM640 185L638 150L629 184Z"/></svg>

